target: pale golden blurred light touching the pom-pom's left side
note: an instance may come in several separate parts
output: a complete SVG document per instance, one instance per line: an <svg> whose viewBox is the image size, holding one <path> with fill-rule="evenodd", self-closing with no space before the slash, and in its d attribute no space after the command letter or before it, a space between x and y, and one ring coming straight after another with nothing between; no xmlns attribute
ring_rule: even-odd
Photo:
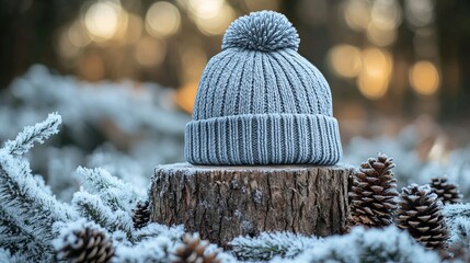
<svg viewBox="0 0 470 263"><path fill-rule="evenodd" d="M215 15L211 16L195 16L193 20L206 35L221 35L226 32L230 23L236 19L233 9L225 3Z"/></svg>

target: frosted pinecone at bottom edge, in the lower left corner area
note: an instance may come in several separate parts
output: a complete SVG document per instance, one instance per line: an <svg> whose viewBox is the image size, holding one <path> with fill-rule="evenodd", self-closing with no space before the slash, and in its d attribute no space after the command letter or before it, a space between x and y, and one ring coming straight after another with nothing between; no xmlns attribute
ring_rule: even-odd
<svg viewBox="0 0 470 263"><path fill-rule="evenodd" d="M114 255L114 248L103 231L87 226L65 236L64 245L58 252L59 258L69 263L107 263Z"/></svg>

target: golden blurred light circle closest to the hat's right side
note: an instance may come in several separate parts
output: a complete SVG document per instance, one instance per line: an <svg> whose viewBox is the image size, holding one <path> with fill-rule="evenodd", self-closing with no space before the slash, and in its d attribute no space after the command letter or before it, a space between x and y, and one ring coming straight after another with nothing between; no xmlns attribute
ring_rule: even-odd
<svg viewBox="0 0 470 263"><path fill-rule="evenodd" d="M333 72L340 77L354 78L360 72L360 50L355 46L334 46L328 59Z"/></svg>

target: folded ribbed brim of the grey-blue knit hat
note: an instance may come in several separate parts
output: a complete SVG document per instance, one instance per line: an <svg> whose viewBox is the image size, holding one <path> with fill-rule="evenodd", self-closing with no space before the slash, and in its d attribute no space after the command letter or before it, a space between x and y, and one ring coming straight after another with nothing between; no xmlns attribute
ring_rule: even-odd
<svg viewBox="0 0 470 263"><path fill-rule="evenodd" d="M193 164L326 165L340 161L342 147L334 117L247 114L190 122L184 153Z"/></svg>

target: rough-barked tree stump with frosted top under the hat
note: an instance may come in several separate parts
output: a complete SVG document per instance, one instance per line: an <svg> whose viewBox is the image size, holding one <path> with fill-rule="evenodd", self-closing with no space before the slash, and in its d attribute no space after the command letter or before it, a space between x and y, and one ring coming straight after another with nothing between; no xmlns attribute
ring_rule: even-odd
<svg viewBox="0 0 470 263"><path fill-rule="evenodd" d="M337 165L161 165L151 185L151 220L183 224L222 247L262 231L342 233L352 172Z"/></svg>

